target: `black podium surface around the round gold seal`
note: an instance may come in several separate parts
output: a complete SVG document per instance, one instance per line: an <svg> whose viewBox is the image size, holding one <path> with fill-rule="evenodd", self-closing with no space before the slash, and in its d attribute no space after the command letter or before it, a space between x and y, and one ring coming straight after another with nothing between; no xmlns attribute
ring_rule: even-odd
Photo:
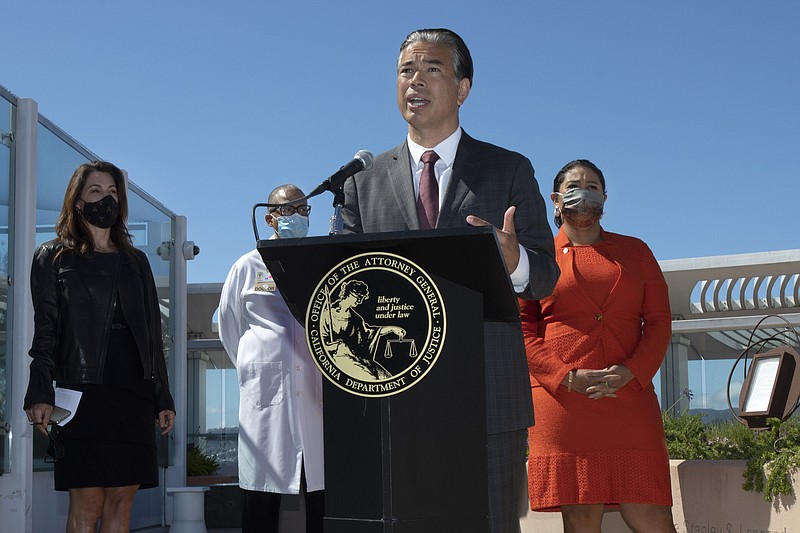
<svg viewBox="0 0 800 533"><path fill-rule="evenodd" d="M483 322L519 319L494 230L262 240L258 250L304 325L321 280L370 252L391 253L426 272L446 311L438 359L407 390L368 397L323 378L325 532L485 533ZM370 292L380 292L376 283Z"/></svg>

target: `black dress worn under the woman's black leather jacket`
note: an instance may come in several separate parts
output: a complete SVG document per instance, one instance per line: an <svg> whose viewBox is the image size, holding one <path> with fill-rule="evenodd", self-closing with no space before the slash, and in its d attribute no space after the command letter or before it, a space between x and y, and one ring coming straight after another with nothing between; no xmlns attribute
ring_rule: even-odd
<svg viewBox="0 0 800 533"><path fill-rule="evenodd" d="M117 256L95 253L86 260L118 261ZM56 490L158 486L154 386L144 379L119 295L114 307L103 382L58 384L83 395L73 419L58 430L64 456L54 465Z"/></svg>

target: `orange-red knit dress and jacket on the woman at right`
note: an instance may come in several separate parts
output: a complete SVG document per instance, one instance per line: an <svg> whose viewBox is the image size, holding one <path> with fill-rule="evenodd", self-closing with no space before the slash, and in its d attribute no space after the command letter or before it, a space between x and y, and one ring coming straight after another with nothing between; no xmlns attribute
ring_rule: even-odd
<svg viewBox="0 0 800 533"><path fill-rule="evenodd" d="M536 425L529 430L531 509L672 505L669 456L652 379L671 336L667 284L639 239L603 232L593 246L555 238L553 294L520 301ZM561 381L572 369L623 364L634 378L591 400Z"/></svg>

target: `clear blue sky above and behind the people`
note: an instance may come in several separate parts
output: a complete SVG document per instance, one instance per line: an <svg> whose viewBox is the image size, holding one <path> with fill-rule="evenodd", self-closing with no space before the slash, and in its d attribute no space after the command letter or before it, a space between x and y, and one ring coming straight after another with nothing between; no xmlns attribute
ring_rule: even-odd
<svg viewBox="0 0 800 533"><path fill-rule="evenodd" d="M659 259L800 247L795 0L26 0L0 16L0 84L188 218L190 282L253 247L275 185L308 191L403 140L394 65L421 27L472 51L467 132L528 156L545 192L572 159L604 170L607 230ZM331 201L312 201L312 234Z"/></svg>

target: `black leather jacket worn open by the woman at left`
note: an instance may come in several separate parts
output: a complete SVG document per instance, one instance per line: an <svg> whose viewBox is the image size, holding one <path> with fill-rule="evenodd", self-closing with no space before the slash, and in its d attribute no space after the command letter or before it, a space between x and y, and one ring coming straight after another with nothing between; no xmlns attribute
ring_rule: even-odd
<svg viewBox="0 0 800 533"><path fill-rule="evenodd" d="M155 383L157 412L175 410L169 392L161 338L161 312L147 256L121 252L118 274L73 252L62 253L58 240L37 248L31 267L34 310L33 358L25 394L34 403L54 405L53 380L102 383L111 320L119 293L125 321L139 348L144 378Z"/></svg>

